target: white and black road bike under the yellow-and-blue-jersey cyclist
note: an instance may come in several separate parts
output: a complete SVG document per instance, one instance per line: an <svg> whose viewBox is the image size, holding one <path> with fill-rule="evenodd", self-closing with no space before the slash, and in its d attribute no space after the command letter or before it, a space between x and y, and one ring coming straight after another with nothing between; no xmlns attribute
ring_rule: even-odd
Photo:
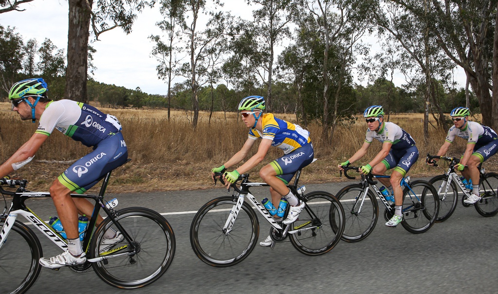
<svg viewBox="0 0 498 294"><path fill-rule="evenodd" d="M306 203L296 221L291 224L277 222L264 206L249 192L252 187L269 187L266 183L252 183L249 174L243 174L232 184L232 196L222 196L208 201L194 216L190 226L190 244L197 257L215 267L233 266L249 256L259 236L259 212L270 225L270 237L282 242L289 237L297 251L316 256L329 252L341 240L344 231L344 210L337 198L324 191L304 195L304 187L298 186L301 170L298 170L289 189ZM223 183L223 174L215 173ZM216 184L216 180L215 180ZM248 201L254 206L251 208ZM282 219L287 217L289 206ZM334 211L334 214L330 212ZM332 219L332 215L335 216Z"/></svg>

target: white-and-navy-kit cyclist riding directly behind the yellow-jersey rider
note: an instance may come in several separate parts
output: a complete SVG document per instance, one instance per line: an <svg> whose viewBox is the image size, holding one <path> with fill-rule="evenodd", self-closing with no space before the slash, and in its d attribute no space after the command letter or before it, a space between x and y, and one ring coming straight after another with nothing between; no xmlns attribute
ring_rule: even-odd
<svg viewBox="0 0 498 294"><path fill-rule="evenodd" d="M400 187L401 179L410 170L418 159L418 149L415 140L405 130L392 122L384 122L384 109L380 105L373 105L365 109L363 116L369 129L363 146L347 161L339 164L343 169L359 160L367 153L373 139L382 143L382 150L373 158L369 164L360 167L360 173L384 175L389 169L393 169L390 178L377 178L387 189L394 194L394 215L385 223L386 226L394 227L403 220L401 206L403 204L403 190Z"/></svg>

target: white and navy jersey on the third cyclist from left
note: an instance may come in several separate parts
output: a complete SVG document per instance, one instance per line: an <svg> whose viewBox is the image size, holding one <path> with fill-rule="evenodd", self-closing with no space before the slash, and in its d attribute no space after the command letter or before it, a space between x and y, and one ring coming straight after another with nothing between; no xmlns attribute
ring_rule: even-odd
<svg viewBox="0 0 498 294"><path fill-rule="evenodd" d="M379 131L367 130L365 142L372 143L373 139L377 139L380 143L392 143L393 150L406 150L415 145L415 140L405 130L393 122L382 122L382 127Z"/></svg>

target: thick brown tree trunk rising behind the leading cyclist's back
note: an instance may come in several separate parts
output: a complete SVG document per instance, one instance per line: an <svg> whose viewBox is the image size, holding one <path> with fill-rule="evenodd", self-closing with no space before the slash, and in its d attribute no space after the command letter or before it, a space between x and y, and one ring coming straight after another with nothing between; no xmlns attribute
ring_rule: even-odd
<svg viewBox="0 0 498 294"><path fill-rule="evenodd" d="M69 29L65 98L87 102L90 10L86 0L69 0ZM93 0L88 0L90 6Z"/></svg>

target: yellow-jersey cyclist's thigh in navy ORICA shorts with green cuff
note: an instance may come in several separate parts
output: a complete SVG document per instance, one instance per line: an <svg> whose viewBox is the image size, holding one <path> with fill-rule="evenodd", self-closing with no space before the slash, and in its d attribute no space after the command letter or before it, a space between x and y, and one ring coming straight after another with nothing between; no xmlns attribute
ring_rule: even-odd
<svg viewBox="0 0 498 294"><path fill-rule="evenodd" d="M313 145L307 144L269 163L276 172L276 176L288 184L294 174L313 162L315 153Z"/></svg>

